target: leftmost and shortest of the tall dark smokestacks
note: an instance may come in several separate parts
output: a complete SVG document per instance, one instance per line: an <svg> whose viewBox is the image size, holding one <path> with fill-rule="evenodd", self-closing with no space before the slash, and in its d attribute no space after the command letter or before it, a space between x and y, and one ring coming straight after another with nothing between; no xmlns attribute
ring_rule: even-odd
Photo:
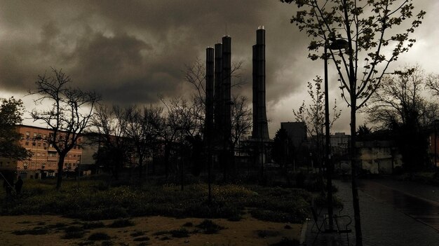
<svg viewBox="0 0 439 246"><path fill-rule="evenodd" d="M205 50L205 139L212 139L214 102L214 49Z"/></svg>

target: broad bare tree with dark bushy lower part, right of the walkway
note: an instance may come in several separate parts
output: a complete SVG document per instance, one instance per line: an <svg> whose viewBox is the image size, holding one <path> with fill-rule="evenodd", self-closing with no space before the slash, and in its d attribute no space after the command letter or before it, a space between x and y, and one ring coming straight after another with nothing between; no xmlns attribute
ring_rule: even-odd
<svg viewBox="0 0 439 246"><path fill-rule="evenodd" d="M371 122L393 132L403 156L403 167L410 172L428 164L428 142L424 129L433 124L438 114L438 104L428 102L424 97L428 82L419 66L396 71L383 78L366 110Z"/></svg>

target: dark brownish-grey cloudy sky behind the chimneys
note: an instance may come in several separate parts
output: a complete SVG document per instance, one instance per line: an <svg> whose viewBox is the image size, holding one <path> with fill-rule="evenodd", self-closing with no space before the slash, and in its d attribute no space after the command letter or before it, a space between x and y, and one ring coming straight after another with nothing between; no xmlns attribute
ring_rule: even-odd
<svg viewBox="0 0 439 246"><path fill-rule="evenodd" d="M438 72L439 1L414 4L427 11L426 19L414 48L395 66L419 63ZM241 74L248 81L232 93L251 102L252 45L257 27L264 25L273 136L281 121L294 121L292 109L306 99L306 82L323 75L322 62L306 58L308 38L290 24L294 13L293 6L277 0L0 1L0 97L22 98L50 67L62 68L77 86L114 104L189 94L184 64L204 59L205 48L228 34L232 60L243 62ZM332 97L339 97L337 86L332 83ZM344 109L334 131L347 130Z"/></svg>

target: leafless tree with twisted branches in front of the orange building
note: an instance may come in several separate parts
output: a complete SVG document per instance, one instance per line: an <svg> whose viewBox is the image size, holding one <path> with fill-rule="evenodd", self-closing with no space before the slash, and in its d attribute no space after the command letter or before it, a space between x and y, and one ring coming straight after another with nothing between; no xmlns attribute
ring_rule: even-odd
<svg viewBox="0 0 439 246"><path fill-rule="evenodd" d="M79 146L79 137L89 126L90 117L93 116L95 104L100 101L100 96L94 92L85 92L79 88L70 87L72 79L62 70L52 69L52 74L39 75L36 90L29 91L29 95L39 95L36 104L49 101L50 109L31 112L34 121L43 121L52 130L46 141L58 152L58 180L56 188L60 189L62 171L67 153L74 146Z"/></svg>

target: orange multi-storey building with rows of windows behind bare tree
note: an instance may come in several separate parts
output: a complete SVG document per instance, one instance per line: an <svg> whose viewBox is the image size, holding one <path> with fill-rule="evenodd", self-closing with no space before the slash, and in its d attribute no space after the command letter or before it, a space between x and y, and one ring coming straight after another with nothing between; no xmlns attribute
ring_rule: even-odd
<svg viewBox="0 0 439 246"><path fill-rule="evenodd" d="M48 144L47 139L53 130L30 125L19 125L18 131L22 135L20 145L32 151L33 155L27 160L11 160L0 157L0 171L14 171L22 178L41 179L55 177L58 173L59 156L55 148ZM78 144L81 143L81 137ZM81 164L82 149L74 146L67 153L64 162L65 171L74 171Z"/></svg>

